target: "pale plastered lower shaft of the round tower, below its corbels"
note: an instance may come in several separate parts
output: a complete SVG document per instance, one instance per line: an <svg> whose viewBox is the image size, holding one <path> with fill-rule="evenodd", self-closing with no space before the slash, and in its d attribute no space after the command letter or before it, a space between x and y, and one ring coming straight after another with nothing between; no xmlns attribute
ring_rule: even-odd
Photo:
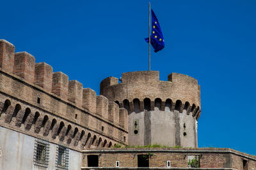
<svg viewBox="0 0 256 170"><path fill-rule="evenodd" d="M196 120L185 110L179 113L170 111L168 107L164 111L155 107L154 111L132 112L128 120L129 145L197 147ZM134 134L135 120L138 122L138 134Z"/></svg>

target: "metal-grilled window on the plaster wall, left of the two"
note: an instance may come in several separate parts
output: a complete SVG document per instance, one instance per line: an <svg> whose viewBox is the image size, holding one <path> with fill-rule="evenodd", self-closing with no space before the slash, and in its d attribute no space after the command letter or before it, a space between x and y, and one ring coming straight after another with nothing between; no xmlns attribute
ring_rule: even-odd
<svg viewBox="0 0 256 170"><path fill-rule="evenodd" d="M35 139L34 165L42 168L48 167L49 162L49 142L44 139Z"/></svg>

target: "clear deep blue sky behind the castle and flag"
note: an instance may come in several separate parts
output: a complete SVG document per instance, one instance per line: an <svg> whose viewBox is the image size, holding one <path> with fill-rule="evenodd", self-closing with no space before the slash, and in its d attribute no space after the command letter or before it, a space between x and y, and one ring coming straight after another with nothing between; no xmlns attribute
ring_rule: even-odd
<svg viewBox="0 0 256 170"><path fill-rule="evenodd" d="M165 48L152 70L201 85L198 146L256 155L256 1L150 1ZM100 81L148 70L148 1L3 1L0 39L99 94Z"/></svg>

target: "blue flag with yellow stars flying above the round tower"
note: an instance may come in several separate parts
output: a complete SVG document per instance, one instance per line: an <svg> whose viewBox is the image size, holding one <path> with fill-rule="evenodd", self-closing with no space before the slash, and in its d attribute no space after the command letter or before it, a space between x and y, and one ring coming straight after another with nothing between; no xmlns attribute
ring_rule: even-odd
<svg viewBox="0 0 256 170"><path fill-rule="evenodd" d="M151 13L152 13L151 15L152 25L151 25L151 36L150 36L151 42L150 43L154 48L154 52L158 52L164 48L164 37L154 11L151 10ZM148 43L149 38L145 38L145 40Z"/></svg>

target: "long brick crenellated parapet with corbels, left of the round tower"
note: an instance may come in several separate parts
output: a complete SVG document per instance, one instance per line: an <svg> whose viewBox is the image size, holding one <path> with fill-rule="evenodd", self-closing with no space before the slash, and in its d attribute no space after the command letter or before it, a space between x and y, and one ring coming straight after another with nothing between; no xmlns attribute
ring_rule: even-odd
<svg viewBox="0 0 256 170"><path fill-rule="evenodd" d="M81 140L83 147L127 145L124 139L128 113L124 108L97 96L92 89L83 88L79 81L68 80L66 74L52 72L49 64L35 63L35 57L28 52L15 53L15 46L4 39L0 40L0 92L3 126L73 146L78 142L74 138Z"/></svg>

